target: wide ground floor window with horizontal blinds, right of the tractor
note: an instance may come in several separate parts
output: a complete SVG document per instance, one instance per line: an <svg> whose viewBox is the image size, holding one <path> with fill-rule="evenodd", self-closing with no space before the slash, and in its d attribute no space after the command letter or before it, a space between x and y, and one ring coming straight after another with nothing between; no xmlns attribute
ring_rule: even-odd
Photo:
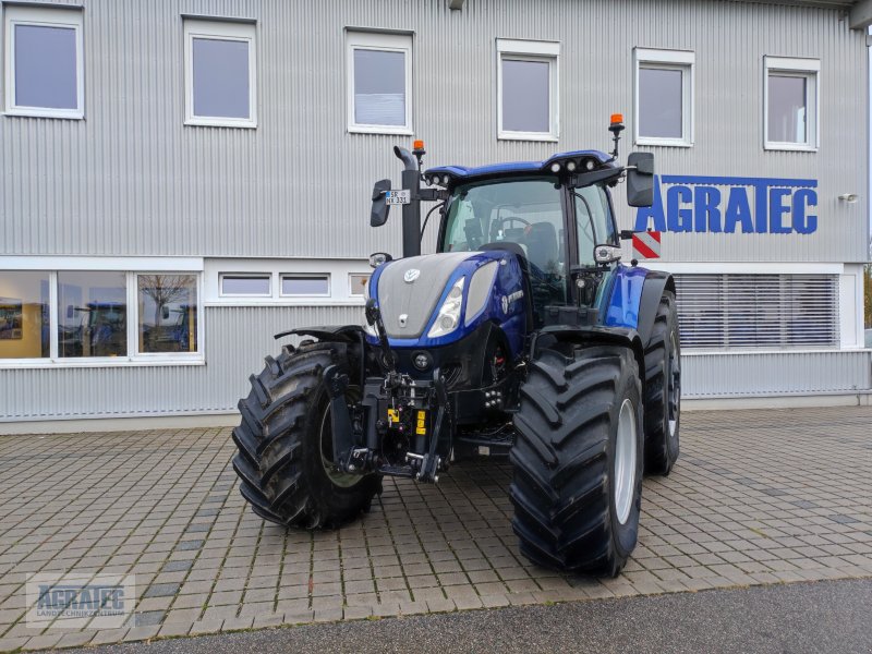
<svg viewBox="0 0 872 654"><path fill-rule="evenodd" d="M837 275L676 275L683 349L839 344Z"/></svg>

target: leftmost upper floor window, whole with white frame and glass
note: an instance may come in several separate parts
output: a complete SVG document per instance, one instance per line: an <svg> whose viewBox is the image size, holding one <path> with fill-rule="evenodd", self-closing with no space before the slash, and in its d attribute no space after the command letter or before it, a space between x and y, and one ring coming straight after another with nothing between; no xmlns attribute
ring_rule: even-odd
<svg viewBox="0 0 872 654"><path fill-rule="evenodd" d="M82 10L5 7L5 110L83 118Z"/></svg>

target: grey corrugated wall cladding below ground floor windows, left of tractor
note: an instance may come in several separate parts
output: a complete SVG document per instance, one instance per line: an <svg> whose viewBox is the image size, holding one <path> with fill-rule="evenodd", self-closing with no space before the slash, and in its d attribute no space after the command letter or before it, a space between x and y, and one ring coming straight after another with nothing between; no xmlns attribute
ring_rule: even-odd
<svg viewBox="0 0 872 654"><path fill-rule="evenodd" d="M206 365L0 370L0 422L233 411L264 355L299 340L274 332L362 320L363 307L209 307Z"/></svg>

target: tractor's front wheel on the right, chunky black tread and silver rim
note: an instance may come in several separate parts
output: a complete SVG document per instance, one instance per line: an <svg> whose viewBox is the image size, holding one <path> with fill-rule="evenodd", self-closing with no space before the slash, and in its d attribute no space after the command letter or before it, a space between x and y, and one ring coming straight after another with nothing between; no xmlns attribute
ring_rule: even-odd
<svg viewBox="0 0 872 654"><path fill-rule="evenodd" d="M617 576L635 547L642 384L627 348L555 344L530 363L514 415L512 528L540 566Z"/></svg>

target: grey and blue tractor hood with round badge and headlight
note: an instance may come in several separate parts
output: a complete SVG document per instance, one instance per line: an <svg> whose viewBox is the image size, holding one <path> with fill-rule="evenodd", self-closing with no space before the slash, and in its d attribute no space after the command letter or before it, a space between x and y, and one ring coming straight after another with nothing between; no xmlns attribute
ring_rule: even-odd
<svg viewBox="0 0 872 654"><path fill-rule="evenodd" d="M517 257L502 251L449 252L388 262L370 281L391 344L438 346L470 334L482 320L523 316ZM450 307L459 310L450 311Z"/></svg>

